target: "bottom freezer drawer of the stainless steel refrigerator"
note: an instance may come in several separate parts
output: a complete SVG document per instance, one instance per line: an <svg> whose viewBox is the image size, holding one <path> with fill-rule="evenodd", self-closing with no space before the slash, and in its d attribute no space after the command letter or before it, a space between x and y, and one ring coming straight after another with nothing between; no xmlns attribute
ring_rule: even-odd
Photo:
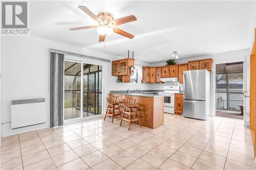
<svg viewBox="0 0 256 170"><path fill-rule="evenodd" d="M183 116L206 120L206 101L183 100Z"/></svg>

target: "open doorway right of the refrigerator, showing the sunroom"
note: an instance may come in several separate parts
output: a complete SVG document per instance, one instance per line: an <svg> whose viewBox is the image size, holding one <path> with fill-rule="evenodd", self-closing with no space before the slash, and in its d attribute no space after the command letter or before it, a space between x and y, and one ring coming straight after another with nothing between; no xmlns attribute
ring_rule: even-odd
<svg viewBox="0 0 256 170"><path fill-rule="evenodd" d="M243 119L243 62L216 64L216 116Z"/></svg>

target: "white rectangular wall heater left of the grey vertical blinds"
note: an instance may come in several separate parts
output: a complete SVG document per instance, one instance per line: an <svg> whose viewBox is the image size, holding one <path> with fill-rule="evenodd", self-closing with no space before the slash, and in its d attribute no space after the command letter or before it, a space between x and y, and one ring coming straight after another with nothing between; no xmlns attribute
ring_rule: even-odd
<svg viewBox="0 0 256 170"><path fill-rule="evenodd" d="M11 101L12 129L46 123L45 98Z"/></svg>

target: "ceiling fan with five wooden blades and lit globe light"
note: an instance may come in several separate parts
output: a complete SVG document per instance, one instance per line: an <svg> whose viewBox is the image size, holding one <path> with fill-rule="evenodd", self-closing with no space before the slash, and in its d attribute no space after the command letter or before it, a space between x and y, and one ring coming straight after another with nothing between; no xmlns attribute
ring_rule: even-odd
<svg viewBox="0 0 256 170"><path fill-rule="evenodd" d="M137 20L137 18L134 15L125 16L122 18L114 19L113 15L108 12L100 12L97 15L95 15L91 10L89 10L87 7L79 6L83 12L85 12L87 15L92 17L96 22L98 22L98 25L96 26L85 26L85 27L77 27L77 28L71 28L69 30L75 31L75 30L84 30L84 29L94 29L97 28L97 32L99 33L99 42L102 42L105 40L105 37L107 35L114 33L120 34L127 38L133 38L134 35L129 34L123 30L120 30L116 28L116 26L119 26L123 23L132 22Z"/></svg>

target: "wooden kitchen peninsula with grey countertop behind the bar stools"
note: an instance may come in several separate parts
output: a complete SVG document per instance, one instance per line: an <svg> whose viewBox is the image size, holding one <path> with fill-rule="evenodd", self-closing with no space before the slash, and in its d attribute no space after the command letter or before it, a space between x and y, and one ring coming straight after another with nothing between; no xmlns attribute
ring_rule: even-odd
<svg viewBox="0 0 256 170"><path fill-rule="evenodd" d="M155 94L141 94L141 93L117 93L110 92L118 96L117 101L122 102L123 95L137 98L136 104L139 105L139 116L141 125L143 127L155 129L163 125L163 106L164 97ZM122 112L122 107L120 108ZM137 122L135 122L138 124Z"/></svg>

